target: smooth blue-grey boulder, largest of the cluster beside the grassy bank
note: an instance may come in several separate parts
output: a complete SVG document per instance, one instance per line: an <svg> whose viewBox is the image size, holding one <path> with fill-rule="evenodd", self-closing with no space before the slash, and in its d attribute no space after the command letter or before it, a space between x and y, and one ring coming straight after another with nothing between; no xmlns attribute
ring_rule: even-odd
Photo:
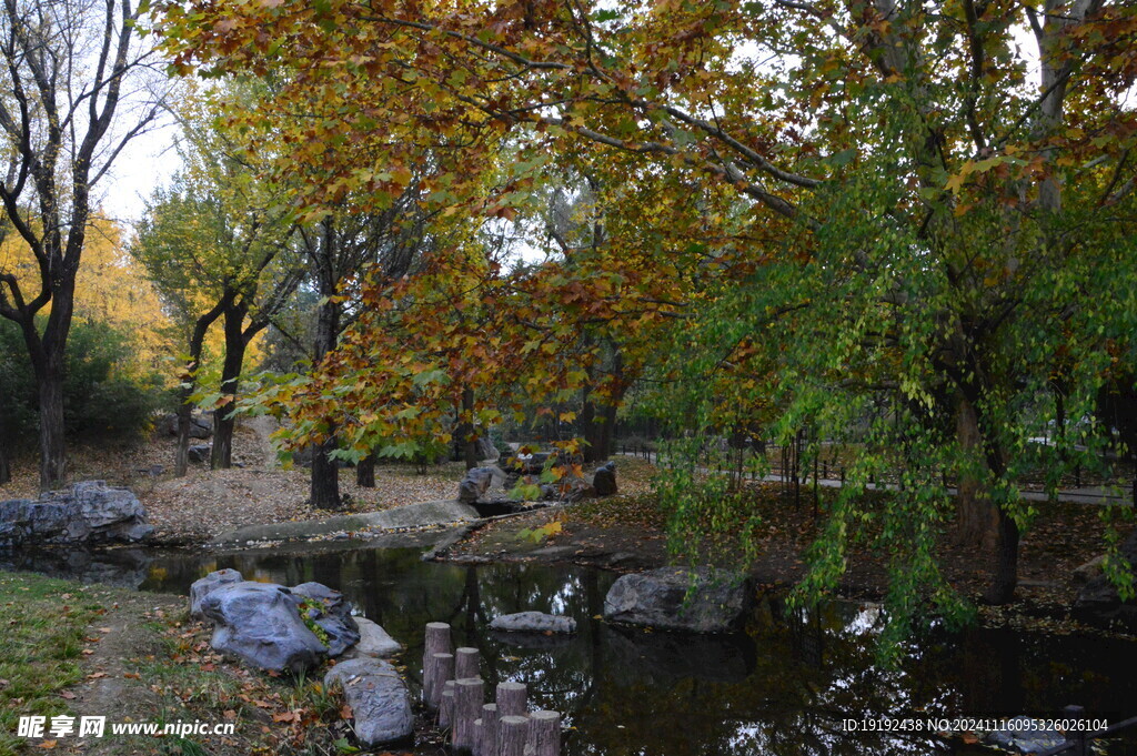
<svg viewBox="0 0 1137 756"><path fill-rule="evenodd" d="M300 618L300 599L283 585L242 581L218 585L201 599L216 623L211 645L252 666L304 672L327 649Z"/></svg>

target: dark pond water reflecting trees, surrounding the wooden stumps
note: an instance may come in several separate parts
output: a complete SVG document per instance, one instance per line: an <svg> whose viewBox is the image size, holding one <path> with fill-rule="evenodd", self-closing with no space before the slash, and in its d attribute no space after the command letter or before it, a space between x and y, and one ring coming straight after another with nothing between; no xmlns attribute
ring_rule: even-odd
<svg viewBox="0 0 1137 756"><path fill-rule="evenodd" d="M115 558L121 582L143 590L184 593L222 567L250 580L339 589L407 646L412 686L423 626L449 622L460 645L481 649L490 686L525 682L533 705L565 714L570 756L978 753L927 733L849 734L843 721L1053 716L1067 704L1111 723L1137 714L1137 645L1121 640L973 630L914 642L901 670L885 671L873 664L872 606L835 604L787 616L777 600L765 600L735 637L644 632L597 618L614 580L600 571L432 564L422 562L421 548L304 549ZM38 558L7 566L61 571ZM86 568L105 580L111 570ZM530 647L489 632L496 615L525 609L571 615L579 632ZM1113 742L1109 753L1132 756L1137 747Z"/></svg>

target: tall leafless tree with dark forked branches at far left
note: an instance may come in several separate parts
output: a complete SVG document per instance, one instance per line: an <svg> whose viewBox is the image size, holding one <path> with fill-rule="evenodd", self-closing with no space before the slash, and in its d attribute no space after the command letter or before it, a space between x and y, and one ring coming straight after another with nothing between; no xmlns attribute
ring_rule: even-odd
<svg viewBox="0 0 1137 756"><path fill-rule="evenodd" d="M31 276L0 268L0 315L19 325L39 383L44 489L67 472L64 352L91 192L158 115L139 16L130 0L3 0L0 13L0 201L34 260Z"/></svg>

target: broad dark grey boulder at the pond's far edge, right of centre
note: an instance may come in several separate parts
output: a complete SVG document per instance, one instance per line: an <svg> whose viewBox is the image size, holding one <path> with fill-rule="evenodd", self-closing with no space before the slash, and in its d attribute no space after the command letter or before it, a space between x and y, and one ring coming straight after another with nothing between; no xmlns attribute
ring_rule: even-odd
<svg viewBox="0 0 1137 756"><path fill-rule="evenodd" d="M747 580L664 567L616 580L604 599L604 617L663 630L729 632L745 621L753 595Z"/></svg>

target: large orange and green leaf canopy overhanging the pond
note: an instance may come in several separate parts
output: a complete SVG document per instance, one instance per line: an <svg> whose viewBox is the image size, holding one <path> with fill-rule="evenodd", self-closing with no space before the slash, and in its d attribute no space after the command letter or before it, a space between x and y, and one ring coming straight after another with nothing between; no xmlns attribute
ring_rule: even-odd
<svg viewBox="0 0 1137 756"><path fill-rule="evenodd" d="M433 375L576 392L599 354L579 335L603 324L630 372L680 391L704 427L757 415L783 437L857 430L811 592L836 585L847 539L873 521L897 625L927 603L948 608L931 549L954 523L990 549L988 598L1010 599L1032 516L1020 473L1060 471L1087 438L1028 440L1080 417L1132 354L1131 3L160 10L175 70L279 84L231 117L254 149L280 140L274 168L304 176L312 215L348 192L389 206L428 146L425 201L447 214L524 221L556 172L600 188L595 248L507 268L455 243L433 277L375 283L373 317L414 306L413 335L363 322L312 407L331 387L382 393L390 412L360 422L366 434L423 417ZM389 362L391 340L404 359ZM904 485L866 508L857 493L886 466Z"/></svg>

